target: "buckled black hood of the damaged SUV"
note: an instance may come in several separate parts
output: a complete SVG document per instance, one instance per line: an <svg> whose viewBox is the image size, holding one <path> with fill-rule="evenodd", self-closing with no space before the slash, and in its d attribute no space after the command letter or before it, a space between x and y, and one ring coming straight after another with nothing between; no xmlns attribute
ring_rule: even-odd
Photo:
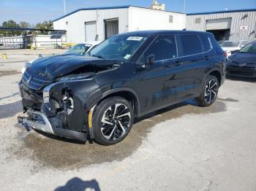
<svg viewBox="0 0 256 191"><path fill-rule="evenodd" d="M116 60L105 60L74 54L42 57L31 63L29 69L34 73L48 78L61 77L84 66L106 67L118 63Z"/></svg>

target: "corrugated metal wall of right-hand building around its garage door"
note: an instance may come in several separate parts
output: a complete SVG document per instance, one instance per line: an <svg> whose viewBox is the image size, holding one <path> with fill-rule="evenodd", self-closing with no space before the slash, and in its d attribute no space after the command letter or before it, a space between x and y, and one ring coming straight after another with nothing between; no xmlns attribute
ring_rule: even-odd
<svg viewBox="0 0 256 191"><path fill-rule="evenodd" d="M201 22L195 23L195 19L199 17L201 18ZM230 26L230 40L252 41L255 39L256 11L187 15L187 30L206 31L206 20L228 17L232 18ZM242 26L246 26L246 30L241 30Z"/></svg>

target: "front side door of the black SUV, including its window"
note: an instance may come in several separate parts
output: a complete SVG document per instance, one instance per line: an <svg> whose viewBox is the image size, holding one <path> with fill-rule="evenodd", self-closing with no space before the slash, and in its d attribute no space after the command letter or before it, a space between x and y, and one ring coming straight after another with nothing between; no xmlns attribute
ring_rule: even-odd
<svg viewBox="0 0 256 191"><path fill-rule="evenodd" d="M141 110L144 114L176 102L180 91L176 91L181 80L176 78L176 68L181 66L175 35L159 35L138 59L141 65L147 58L154 57L154 63L138 71L135 83L139 93Z"/></svg>

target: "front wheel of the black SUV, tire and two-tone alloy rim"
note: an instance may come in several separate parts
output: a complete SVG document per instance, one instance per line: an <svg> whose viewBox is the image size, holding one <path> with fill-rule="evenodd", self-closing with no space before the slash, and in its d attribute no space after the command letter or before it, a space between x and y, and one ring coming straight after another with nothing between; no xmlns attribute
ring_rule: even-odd
<svg viewBox="0 0 256 191"><path fill-rule="evenodd" d="M121 97L102 101L92 117L94 141L112 145L123 140L132 128L134 111L131 104Z"/></svg>

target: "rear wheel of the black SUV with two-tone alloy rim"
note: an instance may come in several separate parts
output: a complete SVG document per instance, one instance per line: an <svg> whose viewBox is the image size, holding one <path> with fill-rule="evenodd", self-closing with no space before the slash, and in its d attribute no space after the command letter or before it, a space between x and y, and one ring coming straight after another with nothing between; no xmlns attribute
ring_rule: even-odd
<svg viewBox="0 0 256 191"><path fill-rule="evenodd" d="M203 88L200 96L196 98L197 103L200 106L211 106L217 98L219 91L219 81L217 77L208 75L205 82L203 83Z"/></svg>

